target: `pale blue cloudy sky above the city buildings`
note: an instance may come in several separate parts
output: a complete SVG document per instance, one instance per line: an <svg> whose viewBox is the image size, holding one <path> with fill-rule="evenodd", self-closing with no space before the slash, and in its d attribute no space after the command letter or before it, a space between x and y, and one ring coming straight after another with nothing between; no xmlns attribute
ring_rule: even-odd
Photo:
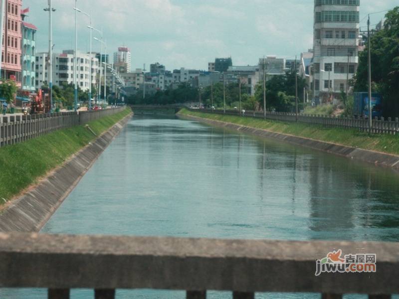
<svg viewBox="0 0 399 299"><path fill-rule="evenodd" d="M159 62L168 70L207 70L215 57L234 65L254 65L263 55L295 58L313 45L314 0L77 0L103 29L107 52L127 46L132 69ZM54 52L74 49L75 0L53 0ZM22 0L27 22L38 27L36 51L48 51L47 0ZM361 28L366 16L399 5L398 0L360 0ZM385 12L371 15L378 23ZM89 51L88 17L78 16L78 48ZM98 35L93 33L94 36ZM93 51L100 44L93 40ZM111 56L112 57L112 56Z"/></svg>

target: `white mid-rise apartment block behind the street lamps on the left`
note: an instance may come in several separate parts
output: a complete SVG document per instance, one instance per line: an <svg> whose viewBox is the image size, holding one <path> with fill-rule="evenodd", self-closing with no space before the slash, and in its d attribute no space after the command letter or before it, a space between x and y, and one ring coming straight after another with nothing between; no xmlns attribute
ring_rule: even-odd
<svg viewBox="0 0 399 299"><path fill-rule="evenodd" d="M48 53L37 53L36 54L36 88L40 88L42 85L47 84L48 71L47 61ZM86 91L89 89L90 84L90 55L88 53L77 53L78 64L77 64L77 82L78 86ZM92 59L92 74L91 83L96 85L96 77L98 72L98 59L95 54L91 55ZM62 85L62 83L70 84L73 83L73 50L65 50L61 54L53 53L53 85Z"/></svg>

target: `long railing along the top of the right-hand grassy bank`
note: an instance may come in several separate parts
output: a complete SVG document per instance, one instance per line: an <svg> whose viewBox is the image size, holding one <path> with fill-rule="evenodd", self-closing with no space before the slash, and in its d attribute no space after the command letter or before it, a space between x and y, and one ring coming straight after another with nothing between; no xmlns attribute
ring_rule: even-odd
<svg viewBox="0 0 399 299"><path fill-rule="evenodd" d="M224 114L222 110L187 109L190 111ZM237 110L226 110L225 114L239 116L240 113ZM245 111L243 117L264 118L264 115L263 112ZM295 113L267 112L266 119L283 122L295 122L296 116ZM357 129L361 132L369 132L369 121L367 118L341 118L334 116L299 114L298 122L312 125L322 125L330 128ZM393 121L391 118L386 120L384 117L376 117L373 120L371 133L390 135L399 134L399 118L396 118L395 121Z"/></svg>

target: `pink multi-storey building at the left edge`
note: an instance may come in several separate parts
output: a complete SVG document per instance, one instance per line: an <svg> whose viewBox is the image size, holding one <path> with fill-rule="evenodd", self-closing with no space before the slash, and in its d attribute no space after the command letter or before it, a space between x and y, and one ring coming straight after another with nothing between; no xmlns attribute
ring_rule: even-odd
<svg viewBox="0 0 399 299"><path fill-rule="evenodd" d="M1 77L14 79L21 86L21 6L22 0L5 1Z"/></svg>

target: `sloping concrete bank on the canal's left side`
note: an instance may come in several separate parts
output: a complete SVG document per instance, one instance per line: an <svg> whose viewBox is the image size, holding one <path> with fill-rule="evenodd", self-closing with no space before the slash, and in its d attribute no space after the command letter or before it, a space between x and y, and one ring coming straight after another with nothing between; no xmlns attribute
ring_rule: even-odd
<svg viewBox="0 0 399 299"><path fill-rule="evenodd" d="M52 171L0 214L0 232L38 232L131 119L128 115Z"/></svg>

